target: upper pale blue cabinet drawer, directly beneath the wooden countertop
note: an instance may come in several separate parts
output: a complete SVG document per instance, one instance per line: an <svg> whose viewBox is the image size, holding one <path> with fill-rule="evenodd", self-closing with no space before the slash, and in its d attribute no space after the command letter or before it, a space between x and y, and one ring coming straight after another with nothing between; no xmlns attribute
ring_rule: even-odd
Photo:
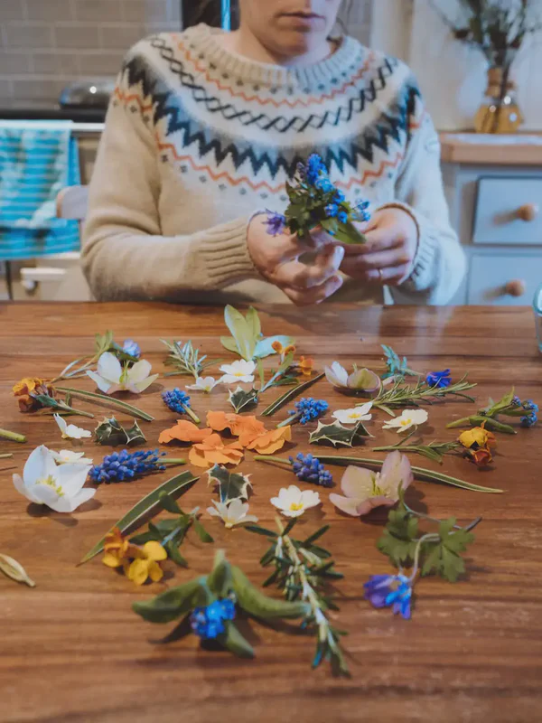
<svg viewBox="0 0 542 723"><path fill-rule="evenodd" d="M542 177L481 178L472 241L542 245Z"/></svg>

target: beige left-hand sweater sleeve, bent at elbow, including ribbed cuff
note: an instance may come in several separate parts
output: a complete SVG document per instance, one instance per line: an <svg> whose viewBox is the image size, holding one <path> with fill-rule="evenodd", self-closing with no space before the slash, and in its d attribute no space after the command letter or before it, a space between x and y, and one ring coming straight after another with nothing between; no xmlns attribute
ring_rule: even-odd
<svg viewBox="0 0 542 723"><path fill-rule="evenodd" d="M190 235L162 234L158 158L139 114L113 101L89 190L82 263L100 301L186 298L257 277L248 218Z"/></svg>

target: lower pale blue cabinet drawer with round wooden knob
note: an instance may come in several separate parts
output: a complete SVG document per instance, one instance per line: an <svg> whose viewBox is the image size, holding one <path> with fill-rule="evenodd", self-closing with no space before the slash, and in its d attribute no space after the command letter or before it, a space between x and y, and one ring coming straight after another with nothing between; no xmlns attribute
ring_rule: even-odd
<svg viewBox="0 0 542 723"><path fill-rule="evenodd" d="M542 284L542 251L535 256L473 254L468 303L528 305ZM517 295L517 296L516 296Z"/></svg>

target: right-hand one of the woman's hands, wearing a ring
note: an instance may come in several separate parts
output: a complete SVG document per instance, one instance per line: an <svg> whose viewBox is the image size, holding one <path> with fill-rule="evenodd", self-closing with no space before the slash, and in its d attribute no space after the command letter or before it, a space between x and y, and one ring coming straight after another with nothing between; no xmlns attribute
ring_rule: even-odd
<svg viewBox="0 0 542 723"><path fill-rule="evenodd" d="M382 209L359 228L367 243L343 245L341 271L361 281L388 286L406 281L414 268L418 242L412 216L397 208Z"/></svg>

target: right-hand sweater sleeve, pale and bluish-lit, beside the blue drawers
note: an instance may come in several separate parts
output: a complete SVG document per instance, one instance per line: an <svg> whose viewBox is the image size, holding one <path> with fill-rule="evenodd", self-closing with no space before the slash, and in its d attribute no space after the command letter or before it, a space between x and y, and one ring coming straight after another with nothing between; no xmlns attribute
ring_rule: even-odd
<svg viewBox="0 0 542 723"><path fill-rule="evenodd" d="M401 286L389 290L399 304L444 305L461 285L466 261L450 224L438 135L423 104L418 100L416 105L406 156L397 179L397 202L382 208L396 206L410 213L418 229L418 247L410 277Z"/></svg>

